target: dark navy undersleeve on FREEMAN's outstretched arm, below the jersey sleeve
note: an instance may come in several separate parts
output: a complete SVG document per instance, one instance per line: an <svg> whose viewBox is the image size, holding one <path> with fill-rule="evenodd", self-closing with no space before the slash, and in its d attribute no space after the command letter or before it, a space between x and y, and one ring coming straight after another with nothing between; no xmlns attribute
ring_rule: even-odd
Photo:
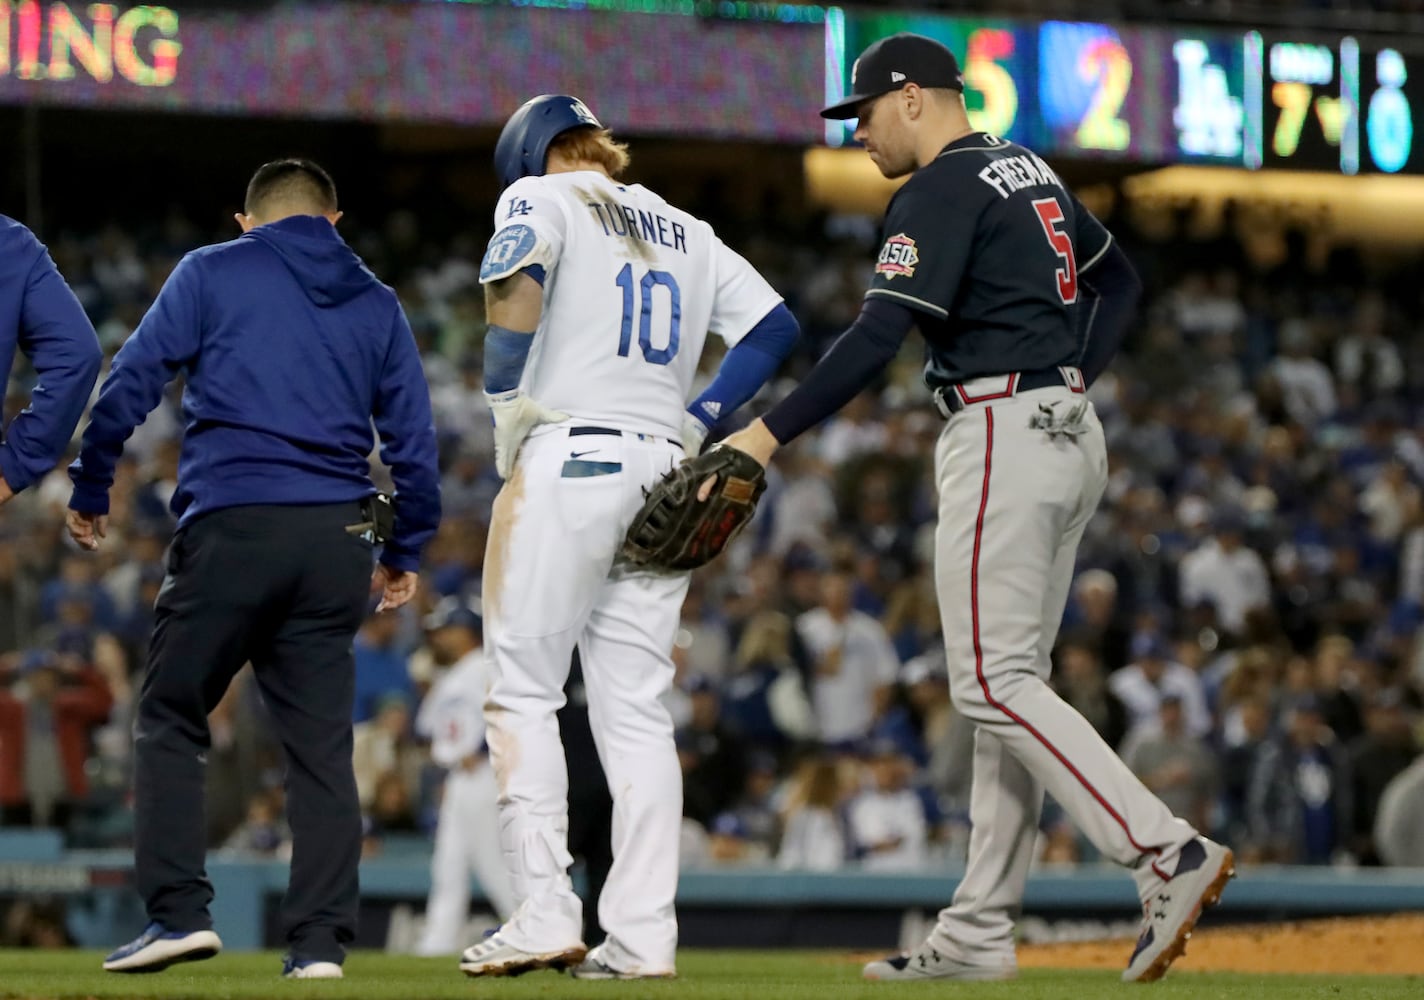
<svg viewBox="0 0 1424 1000"><path fill-rule="evenodd" d="M914 326L914 312L896 302L869 298L860 315L822 355L810 375L762 422L785 444L813 427L869 386L900 352Z"/></svg>

